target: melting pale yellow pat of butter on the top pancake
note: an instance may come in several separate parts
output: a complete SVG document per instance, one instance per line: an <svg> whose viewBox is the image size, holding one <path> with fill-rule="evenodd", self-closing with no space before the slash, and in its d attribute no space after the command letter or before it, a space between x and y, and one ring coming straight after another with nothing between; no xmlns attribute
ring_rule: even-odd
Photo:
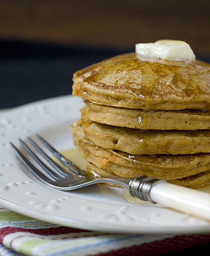
<svg viewBox="0 0 210 256"><path fill-rule="evenodd" d="M159 40L155 43L136 44L136 53L168 61L193 61L195 55L190 46L178 40Z"/></svg>

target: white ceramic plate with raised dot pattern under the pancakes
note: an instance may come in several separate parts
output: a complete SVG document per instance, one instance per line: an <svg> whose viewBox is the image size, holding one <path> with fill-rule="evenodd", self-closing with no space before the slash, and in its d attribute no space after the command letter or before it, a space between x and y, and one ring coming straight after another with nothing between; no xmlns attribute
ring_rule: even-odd
<svg viewBox="0 0 210 256"><path fill-rule="evenodd" d="M104 232L209 232L210 223L158 204L133 204L123 190L92 185L70 192L50 190L22 169L12 141L39 133L63 150L73 148L70 125L79 119L80 98L63 96L27 104L0 114L0 204L47 222ZM21 148L22 151L24 151Z"/></svg>

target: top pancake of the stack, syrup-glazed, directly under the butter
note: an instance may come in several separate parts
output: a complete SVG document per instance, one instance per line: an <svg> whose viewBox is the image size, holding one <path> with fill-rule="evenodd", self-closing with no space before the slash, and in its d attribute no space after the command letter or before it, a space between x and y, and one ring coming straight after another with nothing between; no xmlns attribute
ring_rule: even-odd
<svg viewBox="0 0 210 256"><path fill-rule="evenodd" d="M73 95L143 110L210 109L210 64L126 53L76 71Z"/></svg>

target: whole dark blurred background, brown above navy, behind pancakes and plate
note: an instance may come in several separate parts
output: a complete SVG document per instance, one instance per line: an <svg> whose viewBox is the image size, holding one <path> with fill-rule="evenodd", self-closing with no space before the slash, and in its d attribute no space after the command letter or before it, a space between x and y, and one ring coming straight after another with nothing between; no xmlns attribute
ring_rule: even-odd
<svg viewBox="0 0 210 256"><path fill-rule="evenodd" d="M77 69L160 39L210 62L210 1L0 0L0 108L70 94Z"/></svg>

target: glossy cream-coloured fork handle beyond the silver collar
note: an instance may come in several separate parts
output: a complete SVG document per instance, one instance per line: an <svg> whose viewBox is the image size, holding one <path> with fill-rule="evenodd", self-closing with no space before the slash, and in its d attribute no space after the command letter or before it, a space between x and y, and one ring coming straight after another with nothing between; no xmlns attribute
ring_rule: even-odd
<svg viewBox="0 0 210 256"><path fill-rule="evenodd" d="M153 185L150 198L156 203L210 221L209 193L163 182Z"/></svg>

